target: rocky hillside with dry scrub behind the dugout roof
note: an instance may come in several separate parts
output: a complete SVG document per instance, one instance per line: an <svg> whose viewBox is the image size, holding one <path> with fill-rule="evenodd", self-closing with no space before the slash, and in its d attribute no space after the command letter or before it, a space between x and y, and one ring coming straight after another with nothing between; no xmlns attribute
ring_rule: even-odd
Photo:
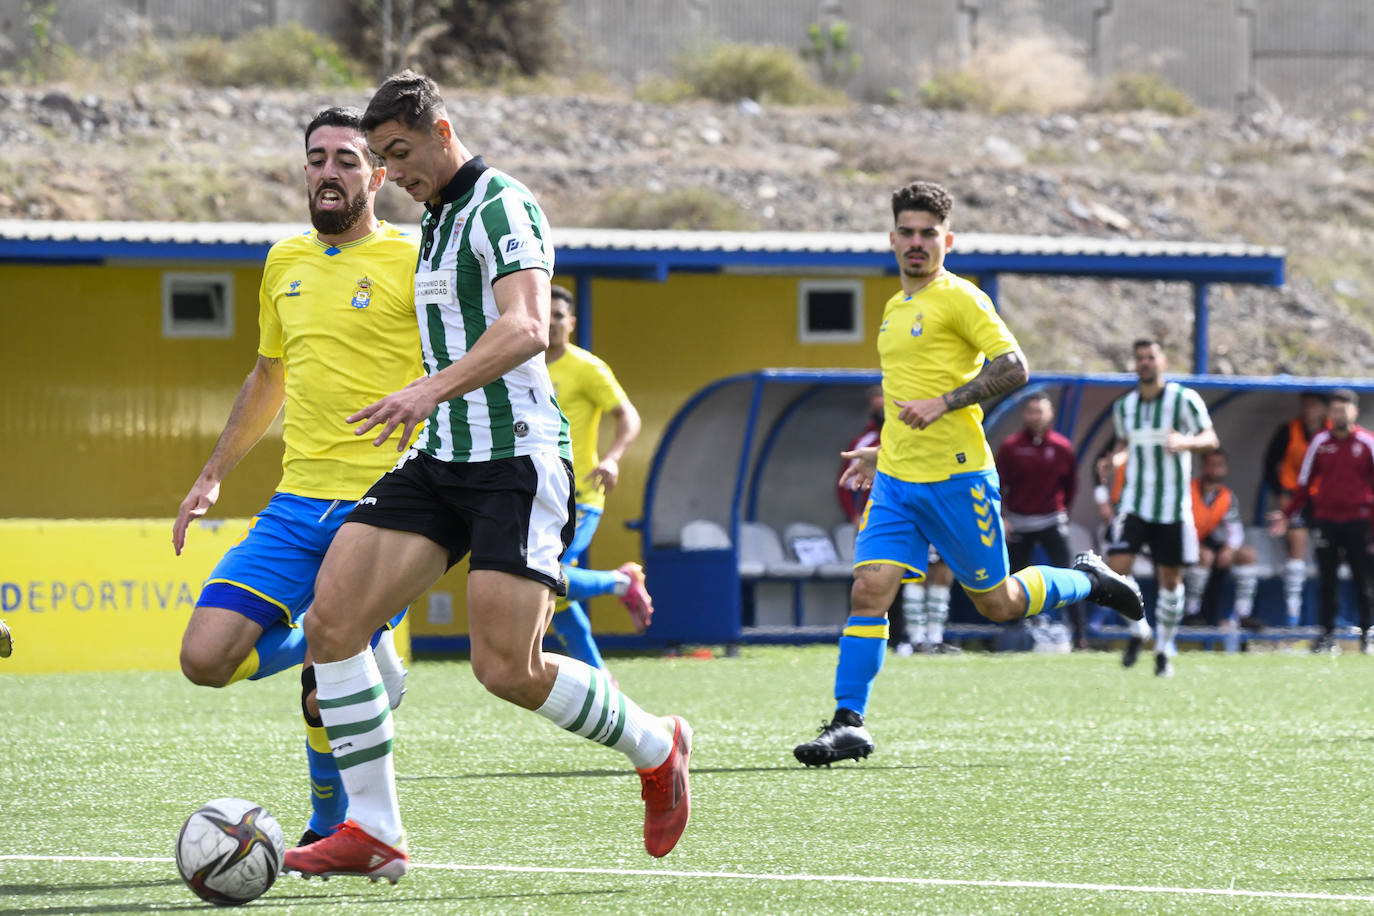
<svg viewBox="0 0 1374 916"><path fill-rule="evenodd" d="M464 141L526 181L555 225L881 232L890 190L930 177L958 198L956 232L1283 246L1286 288L1213 288L1213 368L1374 369L1369 121L449 99ZM0 89L0 217L304 221L302 125L327 104L365 100L359 91ZM390 187L379 210L418 218ZM1183 284L1009 276L1002 299L1035 368L1121 368L1142 332L1161 335L1186 368Z"/></svg>

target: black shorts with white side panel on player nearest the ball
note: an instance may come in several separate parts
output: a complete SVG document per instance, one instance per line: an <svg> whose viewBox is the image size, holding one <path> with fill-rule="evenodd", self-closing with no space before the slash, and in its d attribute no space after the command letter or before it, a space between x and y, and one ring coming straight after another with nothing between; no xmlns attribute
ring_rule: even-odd
<svg viewBox="0 0 1374 916"><path fill-rule="evenodd" d="M566 592L561 560L573 540L573 466L556 455L441 461L411 449L372 485L349 522L423 534L453 566L522 575Z"/></svg>

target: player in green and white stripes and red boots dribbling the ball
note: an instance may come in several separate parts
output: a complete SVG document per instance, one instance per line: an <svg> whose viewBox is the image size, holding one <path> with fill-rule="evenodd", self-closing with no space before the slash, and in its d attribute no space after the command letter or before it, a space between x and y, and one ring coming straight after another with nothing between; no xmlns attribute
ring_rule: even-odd
<svg viewBox="0 0 1374 916"><path fill-rule="evenodd" d="M544 363L548 221L525 185L467 151L427 77L386 80L363 129L387 177L426 205L415 266L426 376L348 420L375 445L423 431L359 501L320 569L306 640L349 820L293 849L286 868L393 882L405 873L394 725L367 651L381 623L363 628L389 619L464 553L473 673L502 699L625 754L642 780L644 849L665 856L690 813L691 728L644 713L606 672L541 650L574 527L567 420ZM499 736L491 744L499 753Z"/></svg>

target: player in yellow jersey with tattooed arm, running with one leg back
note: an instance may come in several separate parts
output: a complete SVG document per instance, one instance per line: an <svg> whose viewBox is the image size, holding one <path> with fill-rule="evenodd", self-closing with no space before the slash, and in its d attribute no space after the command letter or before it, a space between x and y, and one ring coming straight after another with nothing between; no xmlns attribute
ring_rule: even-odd
<svg viewBox="0 0 1374 916"><path fill-rule="evenodd" d="M1030 566L1009 575L998 471L978 405L1025 385L1026 360L987 294L944 268L952 206L929 181L892 195L889 242L901 291L883 306L878 331L886 419L877 449L844 453L852 463L841 483L872 493L855 541L835 714L793 751L807 766L872 753L864 713L888 644L888 608L901 582L925 580L932 547L993 621L1084 597L1132 619L1143 615L1135 584L1092 552L1080 553L1072 570Z"/></svg>

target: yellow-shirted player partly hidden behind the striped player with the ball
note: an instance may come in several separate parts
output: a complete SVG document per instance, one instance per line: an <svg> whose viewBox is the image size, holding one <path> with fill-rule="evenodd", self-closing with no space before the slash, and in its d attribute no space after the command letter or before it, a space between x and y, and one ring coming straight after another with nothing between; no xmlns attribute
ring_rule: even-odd
<svg viewBox="0 0 1374 916"><path fill-rule="evenodd" d="M544 361L554 382L558 407L572 427L573 471L577 485L577 529L563 553L567 596L554 611L554 633L563 650L592 667L606 667L581 602L596 595L616 595L629 611L635 629L643 632L654 614L654 604L644 588L644 570L639 563L622 563L616 570L588 570L587 547L606 507L606 494L620 479L620 459L639 435L639 411L625 396L606 361L572 343L577 325L573 294L561 286L550 290L552 308L548 321L548 349ZM598 455L603 413L616 420L616 434L605 455Z"/></svg>

